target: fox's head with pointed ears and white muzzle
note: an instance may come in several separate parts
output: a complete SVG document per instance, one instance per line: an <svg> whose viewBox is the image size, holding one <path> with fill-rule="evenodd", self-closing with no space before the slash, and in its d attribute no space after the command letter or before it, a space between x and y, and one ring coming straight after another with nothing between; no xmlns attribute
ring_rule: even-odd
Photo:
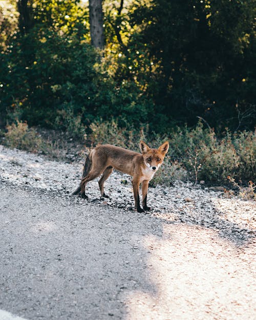
<svg viewBox="0 0 256 320"><path fill-rule="evenodd" d="M164 156L169 148L169 142L164 142L158 149L151 149L145 142L140 141L140 151L145 165L152 171L157 171L163 163Z"/></svg>

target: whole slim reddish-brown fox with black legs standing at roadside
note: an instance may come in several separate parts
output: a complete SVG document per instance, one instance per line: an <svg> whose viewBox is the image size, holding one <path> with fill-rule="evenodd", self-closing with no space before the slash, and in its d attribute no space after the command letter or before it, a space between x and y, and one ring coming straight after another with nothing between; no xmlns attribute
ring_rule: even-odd
<svg viewBox="0 0 256 320"><path fill-rule="evenodd" d="M163 163L168 152L169 143L164 142L158 149L150 148L145 142L139 143L141 153L134 152L111 144L100 144L91 150L83 166L81 182L72 195L87 199L85 193L89 181L98 178L101 197L109 198L104 192L104 182L116 169L133 177L135 208L138 212L151 210L147 206L148 183ZM142 185L142 207L140 206L139 187Z"/></svg>

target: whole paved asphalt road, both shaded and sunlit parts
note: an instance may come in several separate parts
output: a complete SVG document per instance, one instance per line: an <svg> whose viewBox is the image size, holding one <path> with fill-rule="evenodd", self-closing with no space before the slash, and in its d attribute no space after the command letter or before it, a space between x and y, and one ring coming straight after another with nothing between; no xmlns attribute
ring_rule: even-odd
<svg viewBox="0 0 256 320"><path fill-rule="evenodd" d="M255 319L253 239L7 183L0 199L0 320Z"/></svg>

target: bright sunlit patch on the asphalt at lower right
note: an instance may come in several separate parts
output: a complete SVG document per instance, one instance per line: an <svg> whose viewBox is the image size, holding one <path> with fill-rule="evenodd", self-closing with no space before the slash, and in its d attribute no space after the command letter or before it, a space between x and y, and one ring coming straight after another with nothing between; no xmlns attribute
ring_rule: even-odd
<svg viewBox="0 0 256 320"><path fill-rule="evenodd" d="M253 246L238 252L199 226L165 225L163 231L142 243L157 292L128 294L125 320L253 319Z"/></svg>

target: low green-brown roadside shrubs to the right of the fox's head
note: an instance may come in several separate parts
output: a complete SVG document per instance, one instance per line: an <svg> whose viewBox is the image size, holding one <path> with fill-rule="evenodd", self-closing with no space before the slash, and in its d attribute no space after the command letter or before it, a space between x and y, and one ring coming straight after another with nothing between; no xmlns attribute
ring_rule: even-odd
<svg viewBox="0 0 256 320"><path fill-rule="evenodd" d="M255 180L256 136L252 132L231 134L228 130L217 138L214 130L203 129L199 122L193 130L179 130L172 135L172 152L195 178L191 166L197 157L201 168L198 179L225 183L227 176L240 181ZM244 146L244 147L243 147ZM193 170L194 169L194 170Z"/></svg>

